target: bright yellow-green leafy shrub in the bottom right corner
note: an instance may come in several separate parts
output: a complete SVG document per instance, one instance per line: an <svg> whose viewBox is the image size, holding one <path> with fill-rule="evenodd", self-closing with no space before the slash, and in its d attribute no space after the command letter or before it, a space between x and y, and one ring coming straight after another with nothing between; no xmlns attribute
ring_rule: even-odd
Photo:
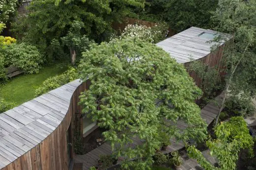
<svg viewBox="0 0 256 170"><path fill-rule="evenodd" d="M187 146L189 156L196 159L205 170L235 170L242 149L249 149L252 156L254 142L243 117L232 117L222 122L215 134L217 139L209 139L206 144L211 150L210 154L219 160L220 168L211 165L195 146Z"/></svg>

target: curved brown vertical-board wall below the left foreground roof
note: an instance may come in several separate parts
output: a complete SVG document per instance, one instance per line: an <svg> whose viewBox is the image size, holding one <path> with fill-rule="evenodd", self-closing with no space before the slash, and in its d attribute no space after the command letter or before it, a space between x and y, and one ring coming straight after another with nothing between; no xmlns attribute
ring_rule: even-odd
<svg viewBox="0 0 256 170"><path fill-rule="evenodd" d="M78 96L85 88L86 83L76 88L64 120L50 135L1 170L68 170L66 131L69 125L73 128L75 113L81 111L80 106L77 106ZM73 149L70 155L73 156Z"/></svg>

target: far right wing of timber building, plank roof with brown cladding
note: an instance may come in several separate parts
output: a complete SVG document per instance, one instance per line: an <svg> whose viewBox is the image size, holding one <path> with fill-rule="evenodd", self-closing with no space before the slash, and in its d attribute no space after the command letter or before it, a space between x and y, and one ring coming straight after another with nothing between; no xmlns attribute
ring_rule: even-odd
<svg viewBox="0 0 256 170"><path fill-rule="evenodd" d="M184 64L187 68L193 60L200 60L209 67L216 67L222 73L224 42L216 45L215 50L211 50L215 44L210 41L217 35L218 32L210 29L191 27L157 43L157 46L164 49L178 63ZM201 79L193 72L190 72L190 75L196 85L200 86Z"/></svg>

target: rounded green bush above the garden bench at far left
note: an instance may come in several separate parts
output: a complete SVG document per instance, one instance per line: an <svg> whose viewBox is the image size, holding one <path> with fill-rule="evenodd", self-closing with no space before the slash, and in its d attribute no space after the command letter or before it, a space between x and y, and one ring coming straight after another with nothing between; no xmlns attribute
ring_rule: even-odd
<svg viewBox="0 0 256 170"><path fill-rule="evenodd" d="M12 64L30 74L39 72L43 57L35 46L25 43L12 44L5 50L5 64Z"/></svg>

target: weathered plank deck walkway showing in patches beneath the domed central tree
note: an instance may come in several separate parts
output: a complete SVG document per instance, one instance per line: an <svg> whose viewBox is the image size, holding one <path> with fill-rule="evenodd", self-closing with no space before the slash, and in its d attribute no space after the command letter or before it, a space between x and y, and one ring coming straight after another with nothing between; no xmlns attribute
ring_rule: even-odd
<svg viewBox="0 0 256 170"><path fill-rule="evenodd" d="M216 97L217 103L221 102L222 94ZM218 114L218 106L217 103L210 102L208 103L202 110L201 110L201 117L206 123L209 125L217 116ZM179 124L180 128L186 128L186 124L181 123ZM129 147L134 147L139 145L141 141L139 139L134 139L133 145ZM167 147L166 151L163 153L169 153L171 151L176 151L183 149L185 145L181 142L177 142L171 140L171 145ZM97 147L96 149L88 152L84 155L75 155L74 162L76 163L83 163L83 170L89 170L90 167L97 165L97 160L99 159L99 155L109 155L112 153L112 148L108 143L104 143L101 146ZM118 163L122 162L122 158L119 158Z"/></svg>

